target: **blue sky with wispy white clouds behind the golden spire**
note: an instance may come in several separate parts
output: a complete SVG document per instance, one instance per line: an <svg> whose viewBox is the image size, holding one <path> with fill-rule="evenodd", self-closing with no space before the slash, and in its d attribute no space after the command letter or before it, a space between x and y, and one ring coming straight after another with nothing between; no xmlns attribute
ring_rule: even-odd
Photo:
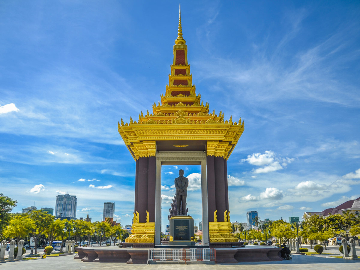
<svg viewBox="0 0 360 270"><path fill-rule="evenodd" d="M130 224L135 162L117 131L160 100L175 1L1 1L0 192L15 211L77 195ZM193 83L242 117L228 160L231 221L302 216L360 196L358 1L183 1ZM199 168L188 207L201 219ZM163 219L178 169L163 168ZM165 225L164 225L165 226Z"/></svg>

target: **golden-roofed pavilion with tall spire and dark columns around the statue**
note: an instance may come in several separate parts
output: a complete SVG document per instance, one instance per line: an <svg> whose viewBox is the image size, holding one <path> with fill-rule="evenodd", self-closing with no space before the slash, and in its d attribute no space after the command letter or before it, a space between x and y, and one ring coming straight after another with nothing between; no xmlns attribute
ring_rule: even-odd
<svg viewBox="0 0 360 270"><path fill-rule="evenodd" d="M158 168L161 170L157 166L157 156L178 153L183 157L196 152L203 153L206 161L207 201L204 203L207 211L204 212L203 207L203 219L206 216L208 222L203 224L208 224L208 230L204 229L208 232L207 244L229 246L238 240L231 234L226 162L244 131L244 122L241 118L233 122L232 117L224 120L222 111L210 112L209 104L204 104L201 95L196 93L180 10L173 52L169 83L165 94L160 96L161 102L154 102L151 113L140 112L135 121L130 117L129 122L121 119L118 123L118 131L136 161L134 223L126 243L134 247L142 247L145 243L147 247L154 245L156 230L160 228L156 222L156 198L161 192L156 189Z"/></svg>

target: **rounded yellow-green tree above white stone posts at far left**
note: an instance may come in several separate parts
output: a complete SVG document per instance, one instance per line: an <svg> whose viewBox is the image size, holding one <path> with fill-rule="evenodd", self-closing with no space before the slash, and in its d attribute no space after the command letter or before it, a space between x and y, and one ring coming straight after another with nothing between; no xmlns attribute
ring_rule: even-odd
<svg viewBox="0 0 360 270"><path fill-rule="evenodd" d="M27 237L34 227L34 222L27 215L16 215L4 230L4 236L16 238L16 243L19 243L21 239Z"/></svg>

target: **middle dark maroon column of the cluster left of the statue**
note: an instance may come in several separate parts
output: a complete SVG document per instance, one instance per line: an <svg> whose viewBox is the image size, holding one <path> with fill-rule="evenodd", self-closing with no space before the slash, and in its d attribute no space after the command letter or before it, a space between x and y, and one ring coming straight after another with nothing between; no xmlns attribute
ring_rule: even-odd
<svg viewBox="0 0 360 270"><path fill-rule="evenodd" d="M139 184L138 184L138 212L139 222L146 222L146 211L148 210L148 173L149 158L139 158Z"/></svg>

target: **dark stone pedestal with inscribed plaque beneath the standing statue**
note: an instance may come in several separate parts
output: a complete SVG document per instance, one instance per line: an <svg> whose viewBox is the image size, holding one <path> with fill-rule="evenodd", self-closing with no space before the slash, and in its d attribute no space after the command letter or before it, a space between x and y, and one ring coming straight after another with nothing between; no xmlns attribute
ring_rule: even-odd
<svg viewBox="0 0 360 270"><path fill-rule="evenodd" d="M172 216L169 246L194 246L194 219L191 216ZM194 238L193 238L194 239Z"/></svg>

